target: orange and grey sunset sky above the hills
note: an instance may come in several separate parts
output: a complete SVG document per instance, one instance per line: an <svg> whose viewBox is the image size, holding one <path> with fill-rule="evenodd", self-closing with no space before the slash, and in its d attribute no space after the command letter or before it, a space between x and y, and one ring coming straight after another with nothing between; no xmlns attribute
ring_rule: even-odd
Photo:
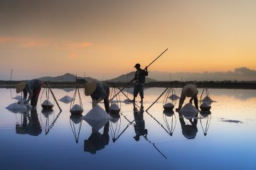
<svg viewBox="0 0 256 170"><path fill-rule="evenodd" d="M0 79L256 70L254 0L1 0ZM193 79L193 78L192 78Z"/></svg>

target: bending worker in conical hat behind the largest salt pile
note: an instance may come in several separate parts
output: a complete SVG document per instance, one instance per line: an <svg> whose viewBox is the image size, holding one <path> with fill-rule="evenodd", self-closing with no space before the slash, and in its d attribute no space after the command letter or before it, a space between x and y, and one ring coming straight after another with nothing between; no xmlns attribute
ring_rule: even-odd
<svg viewBox="0 0 256 170"><path fill-rule="evenodd" d="M110 87L101 81L90 81L85 84L85 96L91 96L92 107L104 100L105 110L110 113Z"/></svg>

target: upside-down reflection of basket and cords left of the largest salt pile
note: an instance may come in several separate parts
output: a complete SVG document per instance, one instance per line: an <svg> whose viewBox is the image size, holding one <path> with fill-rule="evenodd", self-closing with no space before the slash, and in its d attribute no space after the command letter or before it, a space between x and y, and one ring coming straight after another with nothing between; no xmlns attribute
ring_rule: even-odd
<svg viewBox="0 0 256 170"><path fill-rule="evenodd" d="M80 130L82 127L82 115L70 115L70 127L73 132L73 135L75 137L75 142L78 143ZM78 125L79 124L79 125ZM75 127L75 125L78 125L78 127ZM77 130L78 129L78 133Z"/></svg>

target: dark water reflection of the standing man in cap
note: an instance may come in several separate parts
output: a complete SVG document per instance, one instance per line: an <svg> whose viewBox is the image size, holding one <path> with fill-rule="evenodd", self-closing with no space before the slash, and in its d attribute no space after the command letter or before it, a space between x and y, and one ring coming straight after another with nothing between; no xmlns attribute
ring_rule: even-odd
<svg viewBox="0 0 256 170"><path fill-rule="evenodd" d="M134 140L136 141L139 141L139 137L141 135L144 137L146 137L147 135L143 114L144 114L143 106L141 106L138 111L138 108L134 104L134 120L135 120L134 131L136 133L136 135L134 136Z"/></svg>

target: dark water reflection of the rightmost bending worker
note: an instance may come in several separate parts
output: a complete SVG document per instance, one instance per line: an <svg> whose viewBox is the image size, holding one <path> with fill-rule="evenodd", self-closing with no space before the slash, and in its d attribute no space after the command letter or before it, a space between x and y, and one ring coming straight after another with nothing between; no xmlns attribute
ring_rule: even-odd
<svg viewBox="0 0 256 170"><path fill-rule="evenodd" d="M198 128L197 128L198 114L196 114L195 118L189 119L189 122L191 123L191 125L186 125L183 115L181 115L181 113L178 113L178 115L179 115L179 120L181 123L182 134L188 140L194 139L196 137L196 133L198 132Z"/></svg>

